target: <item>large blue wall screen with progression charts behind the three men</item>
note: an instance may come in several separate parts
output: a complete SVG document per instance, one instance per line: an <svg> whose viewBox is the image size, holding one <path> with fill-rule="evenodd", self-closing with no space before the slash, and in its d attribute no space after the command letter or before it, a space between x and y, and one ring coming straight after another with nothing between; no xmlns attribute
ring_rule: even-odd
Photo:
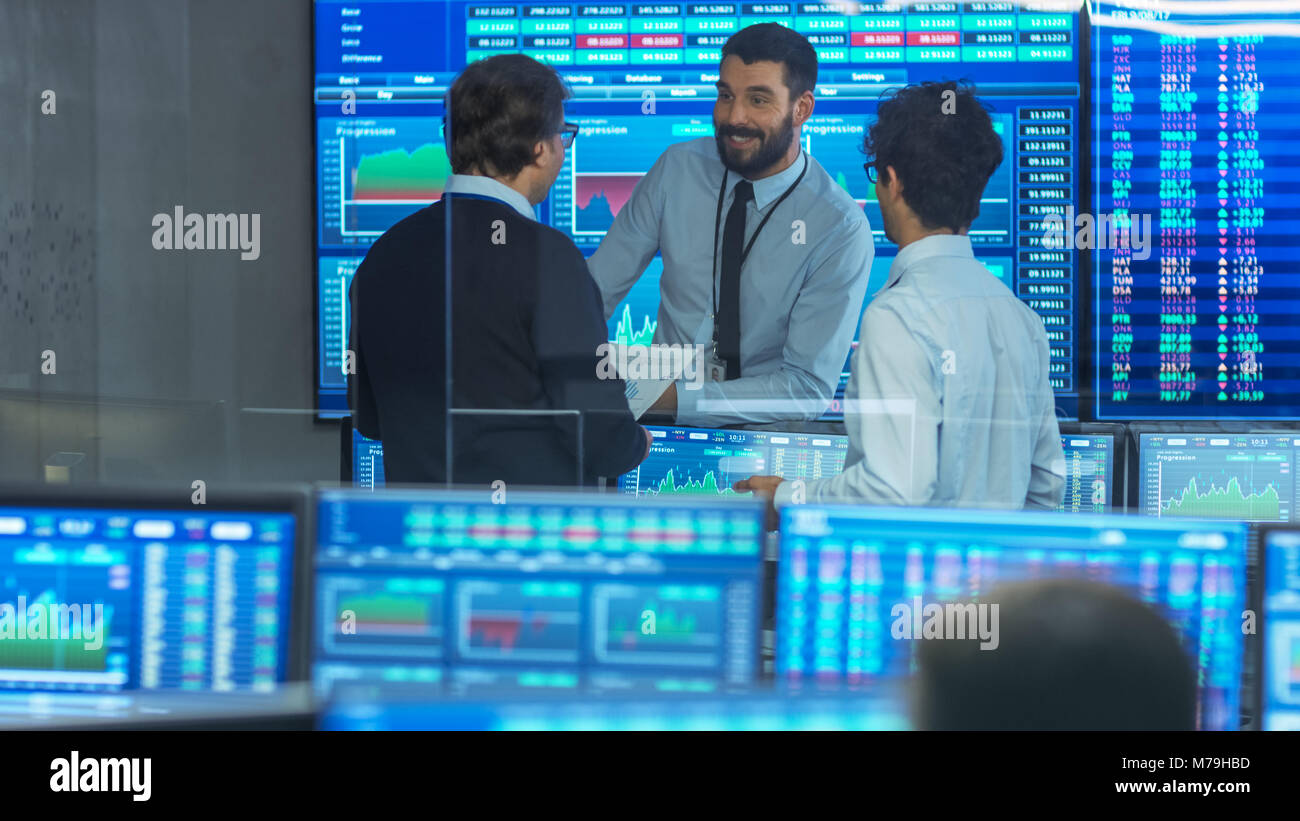
<svg viewBox="0 0 1300 821"><path fill-rule="evenodd" d="M712 136L722 47L779 22L820 61L805 148L864 209L876 240L867 292L896 247L862 170L864 129L889 88L970 79L993 110L1005 158L971 227L976 255L1046 325L1052 385L1078 414L1078 257L1046 248L1041 222L1079 188L1078 3L484 3L317 0L317 398L347 405L347 287L367 248L442 196L451 173L442 97L468 61L523 52L554 65L581 131L538 218L590 255L668 145ZM610 318L610 339L647 343L658 322L656 259ZM846 352L848 353L848 352ZM848 362L829 416L842 410Z"/></svg>

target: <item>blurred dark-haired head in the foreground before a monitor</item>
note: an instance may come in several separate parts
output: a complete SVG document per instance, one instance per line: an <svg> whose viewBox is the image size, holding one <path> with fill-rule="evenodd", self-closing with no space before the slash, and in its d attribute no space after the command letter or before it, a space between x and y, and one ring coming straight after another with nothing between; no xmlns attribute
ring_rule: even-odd
<svg viewBox="0 0 1300 821"><path fill-rule="evenodd" d="M1083 579L1008 585L985 601L1000 605L996 648L919 642L918 729L1195 729L1196 670L1153 607Z"/></svg>

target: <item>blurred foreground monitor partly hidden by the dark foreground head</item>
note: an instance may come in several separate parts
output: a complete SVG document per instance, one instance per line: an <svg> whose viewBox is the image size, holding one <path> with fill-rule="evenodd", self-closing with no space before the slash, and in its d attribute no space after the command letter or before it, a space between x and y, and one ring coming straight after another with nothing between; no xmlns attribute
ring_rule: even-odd
<svg viewBox="0 0 1300 821"><path fill-rule="evenodd" d="M1160 609L1199 668L1199 726L1236 729L1244 540L1235 522L786 507L776 674L811 688L898 681L911 670L914 642L926 640L913 635L926 605L987 601L1005 582L1076 577L1124 587Z"/></svg>

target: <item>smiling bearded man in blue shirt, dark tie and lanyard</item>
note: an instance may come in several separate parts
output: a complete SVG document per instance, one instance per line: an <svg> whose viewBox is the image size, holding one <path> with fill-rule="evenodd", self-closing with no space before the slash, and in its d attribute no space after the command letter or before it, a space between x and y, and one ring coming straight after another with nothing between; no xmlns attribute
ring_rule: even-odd
<svg viewBox="0 0 1300 821"><path fill-rule="evenodd" d="M651 410L702 427L815 420L840 382L875 246L862 205L803 151L816 51L777 23L723 45L714 136L670 147L588 265L604 316L663 255L655 344L699 346L710 381Z"/></svg>

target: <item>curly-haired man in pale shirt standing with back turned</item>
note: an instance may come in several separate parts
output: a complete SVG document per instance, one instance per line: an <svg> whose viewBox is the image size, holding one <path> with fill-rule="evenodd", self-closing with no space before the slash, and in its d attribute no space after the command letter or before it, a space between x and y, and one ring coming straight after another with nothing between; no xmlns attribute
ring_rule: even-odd
<svg viewBox="0 0 1300 821"><path fill-rule="evenodd" d="M845 391L840 475L736 483L772 499L1046 508L1065 490L1043 321L971 251L967 231L1002 162L966 86L922 83L879 107L864 151L889 279L862 316Z"/></svg>

